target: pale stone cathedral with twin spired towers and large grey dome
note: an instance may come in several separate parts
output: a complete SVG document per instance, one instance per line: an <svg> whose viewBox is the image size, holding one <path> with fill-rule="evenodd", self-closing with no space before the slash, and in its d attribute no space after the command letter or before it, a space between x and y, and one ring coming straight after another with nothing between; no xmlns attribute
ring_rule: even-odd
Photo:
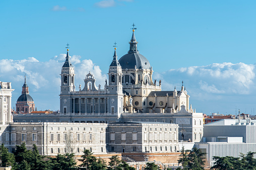
<svg viewBox="0 0 256 170"><path fill-rule="evenodd" d="M162 91L159 83L152 79L153 67L140 54L133 30L129 42L130 50L117 59L116 48L109 65L108 81L104 88L96 86L96 79L89 72L84 87L75 87L75 69L70 62L69 49L61 68L60 112L80 114L110 114L119 119L122 113L176 113L181 106L189 108L189 95L185 88L180 91Z"/></svg>

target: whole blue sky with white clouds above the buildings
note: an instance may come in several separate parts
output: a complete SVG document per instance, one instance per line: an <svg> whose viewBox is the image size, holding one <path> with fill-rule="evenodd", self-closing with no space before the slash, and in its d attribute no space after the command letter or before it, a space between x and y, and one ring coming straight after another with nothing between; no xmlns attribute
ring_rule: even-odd
<svg viewBox="0 0 256 170"><path fill-rule="evenodd" d="M138 50L163 90L180 88L183 80L198 112L253 113L255 1L0 1L0 6L0 81L12 82L12 106L26 73L37 108L59 108L67 43L77 89L88 71L103 84L113 43L119 58L126 54L135 23Z"/></svg>

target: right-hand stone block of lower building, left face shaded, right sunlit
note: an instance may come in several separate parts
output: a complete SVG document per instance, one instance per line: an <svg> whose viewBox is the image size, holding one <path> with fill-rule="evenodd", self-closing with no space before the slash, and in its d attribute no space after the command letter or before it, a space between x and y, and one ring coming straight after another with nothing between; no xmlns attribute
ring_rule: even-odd
<svg viewBox="0 0 256 170"><path fill-rule="evenodd" d="M159 122L116 122L107 127L108 150L113 152L175 152L178 125Z"/></svg>

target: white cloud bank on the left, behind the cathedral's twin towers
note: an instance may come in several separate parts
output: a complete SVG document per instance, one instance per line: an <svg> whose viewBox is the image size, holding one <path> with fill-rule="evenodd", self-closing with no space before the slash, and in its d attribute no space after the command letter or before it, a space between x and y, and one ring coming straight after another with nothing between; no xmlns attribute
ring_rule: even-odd
<svg viewBox="0 0 256 170"><path fill-rule="evenodd" d="M21 94L24 83L24 75L27 74L27 84L30 95L38 109L59 109L60 73L61 67L66 60L66 54L54 56L49 61L41 62L33 57L22 60L0 60L0 81L12 82L15 89L12 97L12 106ZM104 87L107 76L102 74L99 66L92 60L81 60L81 56L74 55L70 61L75 67L75 85L79 90L79 84L84 87L86 74L91 71L95 75L96 85Z"/></svg>

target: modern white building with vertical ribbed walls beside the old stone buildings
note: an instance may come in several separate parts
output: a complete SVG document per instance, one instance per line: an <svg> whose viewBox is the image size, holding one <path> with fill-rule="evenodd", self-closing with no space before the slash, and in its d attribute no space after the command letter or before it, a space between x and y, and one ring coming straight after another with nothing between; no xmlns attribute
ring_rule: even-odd
<svg viewBox="0 0 256 170"><path fill-rule="evenodd" d="M240 153L256 152L256 120L222 119L204 125L203 142L195 143L207 153L213 165L213 156L239 157Z"/></svg>

